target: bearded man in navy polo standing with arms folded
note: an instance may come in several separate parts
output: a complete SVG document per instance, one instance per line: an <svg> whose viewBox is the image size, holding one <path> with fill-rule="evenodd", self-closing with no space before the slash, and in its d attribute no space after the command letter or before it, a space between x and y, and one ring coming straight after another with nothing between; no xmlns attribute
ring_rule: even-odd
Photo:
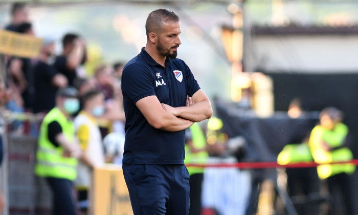
<svg viewBox="0 0 358 215"><path fill-rule="evenodd" d="M152 11L147 44L123 69L123 173L134 214L188 214L189 174L184 130L212 115L189 67L176 59L179 17Z"/></svg>

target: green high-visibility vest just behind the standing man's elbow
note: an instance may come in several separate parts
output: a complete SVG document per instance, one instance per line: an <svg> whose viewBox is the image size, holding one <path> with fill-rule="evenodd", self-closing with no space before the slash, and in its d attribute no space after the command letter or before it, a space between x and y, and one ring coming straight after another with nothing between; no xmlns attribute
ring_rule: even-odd
<svg viewBox="0 0 358 215"><path fill-rule="evenodd" d="M190 132L192 134L193 145L197 149L203 149L206 147L206 138L200 128L198 123L194 123L189 127ZM185 163L197 163L197 164L205 164L207 162L207 158L209 157L206 151L192 153L189 146L185 145ZM199 167L188 167L189 175L193 175L196 173L204 173L204 168Z"/></svg>

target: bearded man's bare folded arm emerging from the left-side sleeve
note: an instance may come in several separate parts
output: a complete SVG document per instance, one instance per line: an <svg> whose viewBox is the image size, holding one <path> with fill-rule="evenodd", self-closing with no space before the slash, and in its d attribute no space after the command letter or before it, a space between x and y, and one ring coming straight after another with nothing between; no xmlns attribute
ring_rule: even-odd
<svg viewBox="0 0 358 215"><path fill-rule="evenodd" d="M144 97L138 100L136 105L148 123L157 129L177 132L190 127L194 123L165 111L156 96Z"/></svg>

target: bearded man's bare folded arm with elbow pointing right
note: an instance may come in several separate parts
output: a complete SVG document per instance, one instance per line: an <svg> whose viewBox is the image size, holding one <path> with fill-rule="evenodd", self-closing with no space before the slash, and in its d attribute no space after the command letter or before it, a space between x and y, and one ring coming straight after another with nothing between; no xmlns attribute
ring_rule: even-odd
<svg viewBox="0 0 358 215"><path fill-rule="evenodd" d="M213 114L209 98L205 95L203 90L198 90L191 97L192 102L187 106L172 107L167 104L162 104L163 109L172 113L174 116L182 117L193 122L200 122L209 119Z"/></svg>

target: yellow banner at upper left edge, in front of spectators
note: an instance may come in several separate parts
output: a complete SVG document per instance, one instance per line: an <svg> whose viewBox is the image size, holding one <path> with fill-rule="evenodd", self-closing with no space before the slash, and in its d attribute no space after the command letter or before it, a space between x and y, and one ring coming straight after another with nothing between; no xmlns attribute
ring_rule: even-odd
<svg viewBox="0 0 358 215"><path fill-rule="evenodd" d="M0 53L32 58L38 56L41 45L41 38L0 30Z"/></svg>

